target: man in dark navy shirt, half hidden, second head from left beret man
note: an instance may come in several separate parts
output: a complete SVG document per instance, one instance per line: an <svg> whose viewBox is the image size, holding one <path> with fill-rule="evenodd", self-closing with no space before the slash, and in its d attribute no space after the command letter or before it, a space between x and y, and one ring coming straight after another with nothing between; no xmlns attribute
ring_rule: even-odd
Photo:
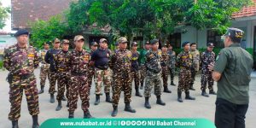
<svg viewBox="0 0 256 128"><path fill-rule="evenodd" d="M44 61L49 63L49 95L50 103L55 102L55 84L57 80L57 70L55 69L55 55L60 51L61 41L58 38L54 40L54 49L49 49L45 55Z"/></svg>

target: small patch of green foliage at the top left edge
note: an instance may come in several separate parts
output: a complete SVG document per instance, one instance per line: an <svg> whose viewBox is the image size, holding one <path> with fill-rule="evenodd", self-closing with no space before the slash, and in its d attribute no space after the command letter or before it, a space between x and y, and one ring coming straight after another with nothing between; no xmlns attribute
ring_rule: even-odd
<svg viewBox="0 0 256 128"><path fill-rule="evenodd" d="M2 3L0 1L0 29L3 29L5 25L5 20L8 19L9 14L10 14L10 8L9 7L2 7Z"/></svg>

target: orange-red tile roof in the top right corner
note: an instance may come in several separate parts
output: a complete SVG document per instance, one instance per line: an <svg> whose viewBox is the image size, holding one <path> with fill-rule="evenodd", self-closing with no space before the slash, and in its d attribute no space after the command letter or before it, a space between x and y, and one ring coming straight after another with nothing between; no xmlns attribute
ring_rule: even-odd
<svg viewBox="0 0 256 128"><path fill-rule="evenodd" d="M256 0L253 0L253 5L242 8L239 12L234 13L232 18L242 18L256 16Z"/></svg>

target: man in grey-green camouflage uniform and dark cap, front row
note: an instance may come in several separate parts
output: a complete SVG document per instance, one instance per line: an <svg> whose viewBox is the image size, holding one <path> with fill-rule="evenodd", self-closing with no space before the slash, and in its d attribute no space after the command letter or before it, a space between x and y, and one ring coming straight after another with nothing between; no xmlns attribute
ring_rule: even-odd
<svg viewBox="0 0 256 128"><path fill-rule="evenodd" d="M156 96L156 104L165 106L166 103L162 102L161 96L161 50L159 47L159 40L153 39L150 41L151 49L146 54L146 67L147 76L145 80L144 96L145 96L145 108L151 108L148 100L151 96L151 90L154 88L154 95Z"/></svg>

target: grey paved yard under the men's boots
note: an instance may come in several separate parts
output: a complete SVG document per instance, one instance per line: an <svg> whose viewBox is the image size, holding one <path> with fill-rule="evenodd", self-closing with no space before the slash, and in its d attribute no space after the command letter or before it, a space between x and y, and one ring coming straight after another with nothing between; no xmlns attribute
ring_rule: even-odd
<svg viewBox="0 0 256 128"><path fill-rule="evenodd" d="M39 70L37 69L35 71L37 77L39 74ZM9 85L5 81L5 78L7 76L7 72L3 71L0 72L0 128L7 128L11 127L11 122L8 120L8 113L9 113ZM137 113L126 113L123 111L124 109L124 100L123 95L121 96L121 99L119 101L119 113L117 118L206 118L210 120L214 120L214 112L215 112L215 99L216 96L210 96L210 97L203 97L201 96L200 91L200 75L196 77L195 81L195 91L191 92L192 96L196 97L195 101L187 101L184 100L183 103L177 102L177 86L169 86L169 88L172 90L172 94L166 94L164 93L162 95L162 99L164 102L166 102L166 106L162 107L155 104L155 96L153 95L152 98L150 98L151 102L151 109L146 109L143 107L144 98L136 97L134 96L134 92L132 92L132 102L131 106L133 108L136 108ZM252 81L250 83L250 104L247 111L247 119L246 119L246 125L247 128L254 128L256 125L255 118L256 118L256 73L252 74ZM39 80L38 82L38 88L39 88ZM177 77L175 77L175 83L177 84ZM214 84L216 85L216 84ZM94 87L94 85L92 85ZM66 103L63 102L63 108L61 111L56 112L55 108L57 106L57 103L49 103L49 94L48 91L48 81L46 85L46 92L44 94L39 95L39 106L40 106L40 114L39 114L39 122L43 123L44 120L50 119L50 118L67 118L68 112L66 108ZM216 88L216 86L214 86ZM94 88L91 90L94 92ZM141 90L143 92L143 90ZM184 95L183 95L184 97ZM102 102L100 105L95 106L93 103L95 102L95 95L90 95L90 113L95 116L96 118L112 118L110 116L110 113L112 112L112 105L104 102L105 96L102 96ZM83 111L79 107L77 111L75 112L75 118L82 118L83 117ZM21 118L19 120L20 128L26 128L31 127L32 125L32 117L28 113L27 105L26 105L26 98L23 96L22 100L22 106L21 106Z"/></svg>

